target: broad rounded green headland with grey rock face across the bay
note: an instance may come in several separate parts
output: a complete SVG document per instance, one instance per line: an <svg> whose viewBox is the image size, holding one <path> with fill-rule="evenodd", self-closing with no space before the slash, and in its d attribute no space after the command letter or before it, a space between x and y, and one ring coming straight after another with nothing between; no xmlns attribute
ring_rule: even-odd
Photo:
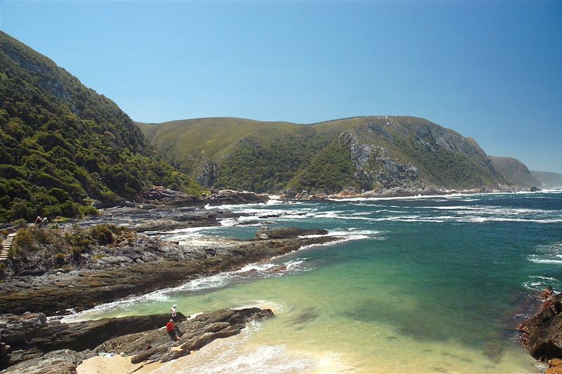
<svg viewBox="0 0 562 374"><path fill-rule="evenodd" d="M508 183L474 140L415 117L313 125L207 118L138 126L166 160L207 186L330 194Z"/></svg>

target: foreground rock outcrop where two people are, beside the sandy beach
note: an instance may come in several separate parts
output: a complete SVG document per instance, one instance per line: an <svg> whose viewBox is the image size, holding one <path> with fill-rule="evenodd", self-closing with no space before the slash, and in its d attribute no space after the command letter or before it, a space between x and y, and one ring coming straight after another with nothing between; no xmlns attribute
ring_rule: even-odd
<svg viewBox="0 0 562 374"><path fill-rule="evenodd" d="M190 320L178 314L182 338L166 333L168 314L60 323L42 313L0 316L0 373L70 374L97 354L131 356L131 363L171 361L218 338L240 333L248 321L273 316L270 309L222 309ZM172 350L171 347L177 347Z"/></svg>

